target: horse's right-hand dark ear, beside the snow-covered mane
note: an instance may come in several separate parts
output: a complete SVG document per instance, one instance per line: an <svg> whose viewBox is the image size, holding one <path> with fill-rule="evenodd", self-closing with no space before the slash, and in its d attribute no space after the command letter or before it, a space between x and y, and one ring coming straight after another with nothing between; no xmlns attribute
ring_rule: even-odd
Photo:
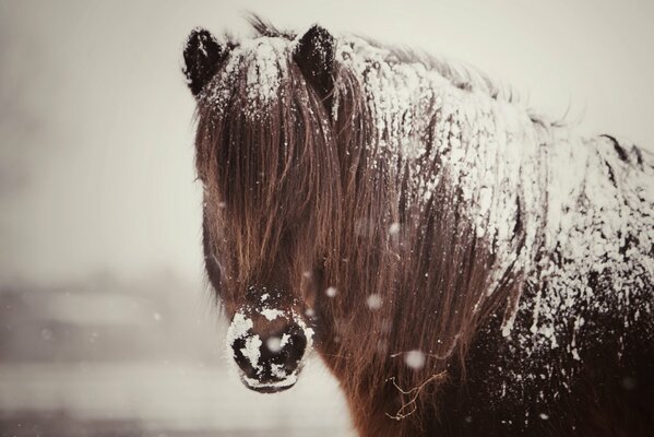
<svg viewBox="0 0 654 437"><path fill-rule="evenodd" d="M294 54L302 74L323 98L334 88L334 37L316 24L298 40Z"/></svg>

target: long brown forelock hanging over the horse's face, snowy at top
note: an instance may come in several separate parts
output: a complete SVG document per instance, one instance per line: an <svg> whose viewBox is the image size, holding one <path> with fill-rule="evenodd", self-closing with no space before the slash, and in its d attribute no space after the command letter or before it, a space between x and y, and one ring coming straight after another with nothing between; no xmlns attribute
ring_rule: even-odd
<svg viewBox="0 0 654 437"><path fill-rule="evenodd" d="M236 282L290 281L334 246L341 187L328 111L278 42L234 54L218 72L200 101L197 146L212 239L231 251L221 255Z"/></svg>

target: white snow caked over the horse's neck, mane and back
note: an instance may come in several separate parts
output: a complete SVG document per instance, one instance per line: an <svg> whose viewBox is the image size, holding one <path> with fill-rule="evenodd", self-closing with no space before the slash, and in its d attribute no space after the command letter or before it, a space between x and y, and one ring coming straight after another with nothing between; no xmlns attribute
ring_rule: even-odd
<svg viewBox="0 0 654 437"><path fill-rule="evenodd" d="M444 177L456 181L477 236L496 255L487 295L509 270L536 290L509 303L502 334L515 353L528 359L563 347L579 361L583 345L575 338L588 311L618 311L626 327L651 315L649 155L610 137L584 139L567 127L535 122L521 104L491 98L484 81L455 86L439 70L401 62L361 38L342 39L337 61L364 83L377 143L413 170L421 201ZM428 135L436 138L431 147ZM423 163L435 161L439 172L425 173ZM603 292L588 285L593 275L606 282ZM520 329L519 312L532 319ZM520 374L516 368L516 380L525 377Z"/></svg>

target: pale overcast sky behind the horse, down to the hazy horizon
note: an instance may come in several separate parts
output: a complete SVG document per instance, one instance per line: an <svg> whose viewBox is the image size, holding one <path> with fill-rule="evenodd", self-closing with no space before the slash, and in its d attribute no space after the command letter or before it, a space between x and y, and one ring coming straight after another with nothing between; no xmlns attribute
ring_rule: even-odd
<svg viewBox="0 0 654 437"><path fill-rule="evenodd" d="M585 132L653 150L651 1L0 1L0 282L201 274L194 26L246 11L467 61Z"/></svg>

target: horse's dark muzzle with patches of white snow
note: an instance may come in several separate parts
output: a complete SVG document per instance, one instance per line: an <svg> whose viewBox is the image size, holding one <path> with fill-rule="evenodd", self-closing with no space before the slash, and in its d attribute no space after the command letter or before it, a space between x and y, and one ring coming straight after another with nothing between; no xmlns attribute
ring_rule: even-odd
<svg viewBox="0 0 654 437"><path fill-rule="evenodd" d="M227 352L238 365L246 387L262 393L289 389L297 381L313 330L289 309L265 305L246 307L234 315L227 330Z"/></svg>

